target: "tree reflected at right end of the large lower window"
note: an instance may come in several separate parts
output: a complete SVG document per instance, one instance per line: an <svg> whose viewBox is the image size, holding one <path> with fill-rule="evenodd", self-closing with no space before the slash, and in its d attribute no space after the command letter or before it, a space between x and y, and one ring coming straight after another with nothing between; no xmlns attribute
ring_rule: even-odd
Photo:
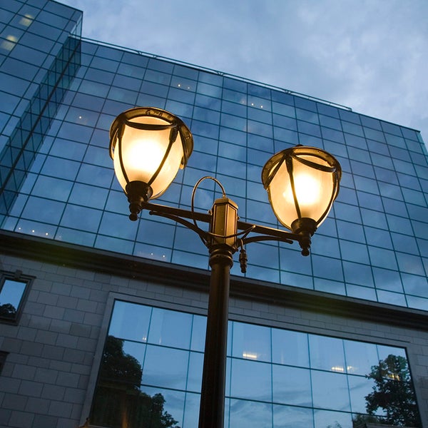
<svg viewBox="0 0 428 428"><path fill-rule="evenodd" d="M421 427L406 358L388 355L366 377L374 380L373 391L365 397L368 414L374 415L380 407L386 413L384 424Z"/></svg>

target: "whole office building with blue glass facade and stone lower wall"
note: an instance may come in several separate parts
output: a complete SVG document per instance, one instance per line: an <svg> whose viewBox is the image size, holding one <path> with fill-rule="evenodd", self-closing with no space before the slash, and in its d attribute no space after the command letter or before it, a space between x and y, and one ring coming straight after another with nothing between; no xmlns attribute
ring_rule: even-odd
<svg viewBox="0 0 428 428"><path fill-rule="evenodd" d="M300 143L342 165L310 257L252 243L247 273L233 266L225 427L428 427L418 131L82 39L81 11L55 1L0 17L1 426L198 425L208 252L170 220L129 221L108 156L113 119L153 106L195 143L164 205L190 208L209 175L242 220L278 228L260 180L273 153ZM195 209L220 195L203 181Z"/></svg>

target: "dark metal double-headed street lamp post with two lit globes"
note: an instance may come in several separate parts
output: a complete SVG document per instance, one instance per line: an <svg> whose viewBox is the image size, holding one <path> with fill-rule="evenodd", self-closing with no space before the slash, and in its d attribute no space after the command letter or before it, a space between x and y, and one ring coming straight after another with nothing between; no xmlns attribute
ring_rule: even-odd
<svg viewBox="0 0 428 428"><path fill-rule="evenodd" d="M131 220L141 210L185 225L198 233L210 254L210 295L205 338L199 428L223 428L230 267L240 249L245 272L245 245L263 240L297 241L309 255L310 239L327 217L342 174L340 164L319 148L295 146L276 153L262 171L272 209L291 232L240 221L238 205L223 192L208 213L149 202L158 198L184 168L193 151L193 136L183 121L159 108L138 107L121 113L110 129L110 156L116 177L128 196ZM188 219L188 220L186 220ZM189 221L191 220L191 221ZM198 227L208 223L209 230Z"/></svg>

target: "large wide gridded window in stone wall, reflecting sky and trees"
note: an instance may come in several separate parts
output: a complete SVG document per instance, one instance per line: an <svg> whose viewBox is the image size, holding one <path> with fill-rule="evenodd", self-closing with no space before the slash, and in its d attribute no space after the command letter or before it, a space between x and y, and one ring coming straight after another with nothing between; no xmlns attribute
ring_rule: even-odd
<svg viewBox="0 0 428 428"><path fill-rule="evenodd" d="M196 428L206 318L117 300L91 424ZM225 427L420 427L405 350L230 321Z"/></svg>

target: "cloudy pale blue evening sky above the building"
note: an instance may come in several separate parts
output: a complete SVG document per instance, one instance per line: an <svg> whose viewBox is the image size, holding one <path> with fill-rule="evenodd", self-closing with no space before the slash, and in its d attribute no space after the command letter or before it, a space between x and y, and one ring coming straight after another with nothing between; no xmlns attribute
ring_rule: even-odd
<svg viewBox="0 0 428 428"><path fill-rule="evenodd" d="M60 0L84 37L322 98L428 143L427 0Z"/></svg>

